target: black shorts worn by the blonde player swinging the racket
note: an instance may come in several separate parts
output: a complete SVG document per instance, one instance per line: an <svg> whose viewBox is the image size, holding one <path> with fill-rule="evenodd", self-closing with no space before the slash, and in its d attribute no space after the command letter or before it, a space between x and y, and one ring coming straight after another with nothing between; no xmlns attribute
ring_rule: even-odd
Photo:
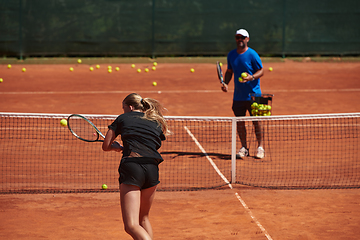
<svg viewBox="0 0 360 240"><path fill-rule="evenodd" d="M137 163L122 160L119 166L119 183L151 188L160 183L159 167L153 163Z"/></svg>

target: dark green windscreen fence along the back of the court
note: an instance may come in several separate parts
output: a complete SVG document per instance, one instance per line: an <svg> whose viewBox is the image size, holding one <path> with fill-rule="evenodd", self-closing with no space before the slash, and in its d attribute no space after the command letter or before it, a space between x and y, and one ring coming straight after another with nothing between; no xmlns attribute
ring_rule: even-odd
<svg viewBox="0 0 360 240"><path fill-rule="evenodd" d="M0 56L360 53L358 0L1 0Z"/></svg>

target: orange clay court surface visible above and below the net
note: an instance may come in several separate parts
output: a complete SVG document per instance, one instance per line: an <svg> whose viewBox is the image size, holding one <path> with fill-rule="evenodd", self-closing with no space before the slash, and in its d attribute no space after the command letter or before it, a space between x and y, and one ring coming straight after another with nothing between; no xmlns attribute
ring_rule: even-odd
<svg viewBox="0 0 360 240"><path fill-rule="evenodd" d="M122 99L137 92L162 102L168 116L233 116L233 85L228 93L220 90L216 59L211 61L159 59L156 71L147 73L151 59L136 62L135 68L131 60L100 62L94 71L89 67L97 63L86 59L81 64L76 59L58 64L14 62L11 69L4 63L0 112L117 115L122 113ZM360 112L359 62L263 64L261 87L263 93L274 94L273 115ZM359 197L359 189L242 185L158 192L151 222L155 239L358 239ZM0 203L2 239L131 239L123 230L118 193L8 194L0 195Z"/></svg>

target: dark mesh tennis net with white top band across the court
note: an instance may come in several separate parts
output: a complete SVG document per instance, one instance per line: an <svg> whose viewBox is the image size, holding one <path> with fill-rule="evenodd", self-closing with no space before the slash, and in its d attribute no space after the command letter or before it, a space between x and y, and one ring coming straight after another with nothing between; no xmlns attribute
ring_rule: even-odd
<svg viewBox="0 0 360 240"><path fill-rule="evenodd" d="M0 193L118 191L121 154L76 139L60 120L70 114L0 113ZM100 131L117 117L84 115ZM166 117L172 135L160 148L159 190L198 190L227 184L279 188L358 188L360 113L268 117ZM255 158L253 124L265 157ZM250 156L237 125L245 124ZM108 189L102 190L102 184Z"/></svg>

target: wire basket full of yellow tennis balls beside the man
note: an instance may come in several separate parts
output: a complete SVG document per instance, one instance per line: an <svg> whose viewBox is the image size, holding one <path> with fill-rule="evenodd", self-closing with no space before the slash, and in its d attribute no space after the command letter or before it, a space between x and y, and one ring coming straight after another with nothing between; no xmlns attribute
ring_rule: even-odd
<svg viewBox="0 0 360 240"><path fill-rule="evenodd" d="M250 94L251 114L253 116L271 116L273 94Z"/></svg>

